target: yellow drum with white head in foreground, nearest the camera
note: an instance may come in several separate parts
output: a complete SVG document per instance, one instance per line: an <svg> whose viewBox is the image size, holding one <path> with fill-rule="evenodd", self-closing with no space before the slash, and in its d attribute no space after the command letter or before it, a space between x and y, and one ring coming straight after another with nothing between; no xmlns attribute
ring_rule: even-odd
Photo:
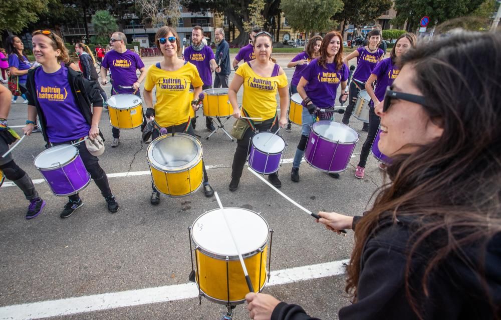
<svg viewBox="0 0 501 320"><path fill-rule="evenodd" d="M224 210L252 285L261 291L267 280L268 223L251 210ZM190 236L195 248L195 281L203 295L217 303L243 303L249 289L221 210L200 215L190 228Z"/></svg>

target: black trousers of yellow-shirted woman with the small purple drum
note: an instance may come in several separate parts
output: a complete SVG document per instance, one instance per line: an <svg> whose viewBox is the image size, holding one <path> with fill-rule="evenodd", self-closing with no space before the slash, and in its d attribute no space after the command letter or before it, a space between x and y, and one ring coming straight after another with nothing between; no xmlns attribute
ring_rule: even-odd
<svg viewBox="0 0 501 320"><path fill-rule="evenodd" d="M256 130L258 132L271 131L275 132L279 128L279 121L273 121L275 117L263 121L262 123L255 124ZM273 126L272 126L273 124ZM252 129L248 128L243 134L243 137L239 140L236 140L236 150L233 155L233 164L231 165L231 176L235 178L240 178L242 176L243 166L245 165L245 160L247 159L247 155L249 154L249 142L250 139L256 134ZM277 172L272 173L271 175L277 175Z"/></svg>

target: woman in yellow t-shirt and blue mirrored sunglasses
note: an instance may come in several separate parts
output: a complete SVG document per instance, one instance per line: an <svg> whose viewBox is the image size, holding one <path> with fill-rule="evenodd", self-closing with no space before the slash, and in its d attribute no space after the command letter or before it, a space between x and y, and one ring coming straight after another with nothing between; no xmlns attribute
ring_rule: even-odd
<svg viewBox="0 0 501 320"><path fill-rule="evenodd" d="M178 58L180 39L174 28L163 26L155 34L155 43L163 55L163 60L150 66L144 83L144 101L146 118L154 117L160 126L152 131L152 139L156 139L158 129L166 128L166 132L184 132L195 136L190 124L189 108L195 106L196 97L202 92L202 79L196 67L190 62ZM189 86L193 85L195 99L190 101ZM153 105L153 89L156 89L156 103ZM160 203L160 193L151 183L151 204ZM205 196L210 197L214 190L209 185L205 165L203 165L203 187Z"/></svg>

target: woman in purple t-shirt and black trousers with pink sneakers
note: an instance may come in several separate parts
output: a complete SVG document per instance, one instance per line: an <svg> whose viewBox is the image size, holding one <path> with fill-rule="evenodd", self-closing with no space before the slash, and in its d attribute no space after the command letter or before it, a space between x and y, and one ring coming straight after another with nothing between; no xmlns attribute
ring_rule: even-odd
<svg viewBox="0 0 501 320"><path fill-rule="evenodd" d="M412 47L416 42L416 36L413 33L404 33L400 35L395 42L395 46L391 49L390 57L379 62L374 70L372 70L369 79L365 82L365 89L369 93L372 103L369 104L371 108L369 109L369 132L367 138L365 139L364 145L362 146L362 151L360 152L360 160L358 162L357 168L355 170L355 176L359 179L364 177L365 163L367 162L367 157L369 156L369 151L372 146L372 141L376 137L377 130L379 128L380 118L374 112L374 105L378 105L383 99L386 87L393 83L393 80L397 77L399 69L396 65L396 60L402 54L407 52L407 50ZM377 80L375 90L372 89L372 84ZM380 167L383 168L384 164L381 163Z"/></svg>

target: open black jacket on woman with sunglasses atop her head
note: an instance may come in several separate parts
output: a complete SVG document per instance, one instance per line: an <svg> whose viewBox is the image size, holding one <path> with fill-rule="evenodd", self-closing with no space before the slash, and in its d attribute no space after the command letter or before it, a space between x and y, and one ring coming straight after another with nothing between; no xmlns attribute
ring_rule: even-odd
<svg viewBox="0 0 501 320"><path fill-rule="evenodd" d="M42 125L41 129L44 134L44 139L46 142L49 142L47 132L44 130L47 126L47 120L42 108L40 107L36 94L37 86L35 85L35 70L39 67L42 66L38 66L28 71L28 79L26 81L28 91L26 92L26 97L28 98L29 105L35 105L37 107L37 113L40 119L40 124ZM89 125L92 125L92 106L103 106L103 97L97 87L97 83L95 81L85 79L82 76L82 72L75 71L70 67L68 67L68 82L70 83L71 92L73 93L75 101L77 101L85 120L89 123ZM101 132L99 132L99 134L103 137Z"/></svg>

